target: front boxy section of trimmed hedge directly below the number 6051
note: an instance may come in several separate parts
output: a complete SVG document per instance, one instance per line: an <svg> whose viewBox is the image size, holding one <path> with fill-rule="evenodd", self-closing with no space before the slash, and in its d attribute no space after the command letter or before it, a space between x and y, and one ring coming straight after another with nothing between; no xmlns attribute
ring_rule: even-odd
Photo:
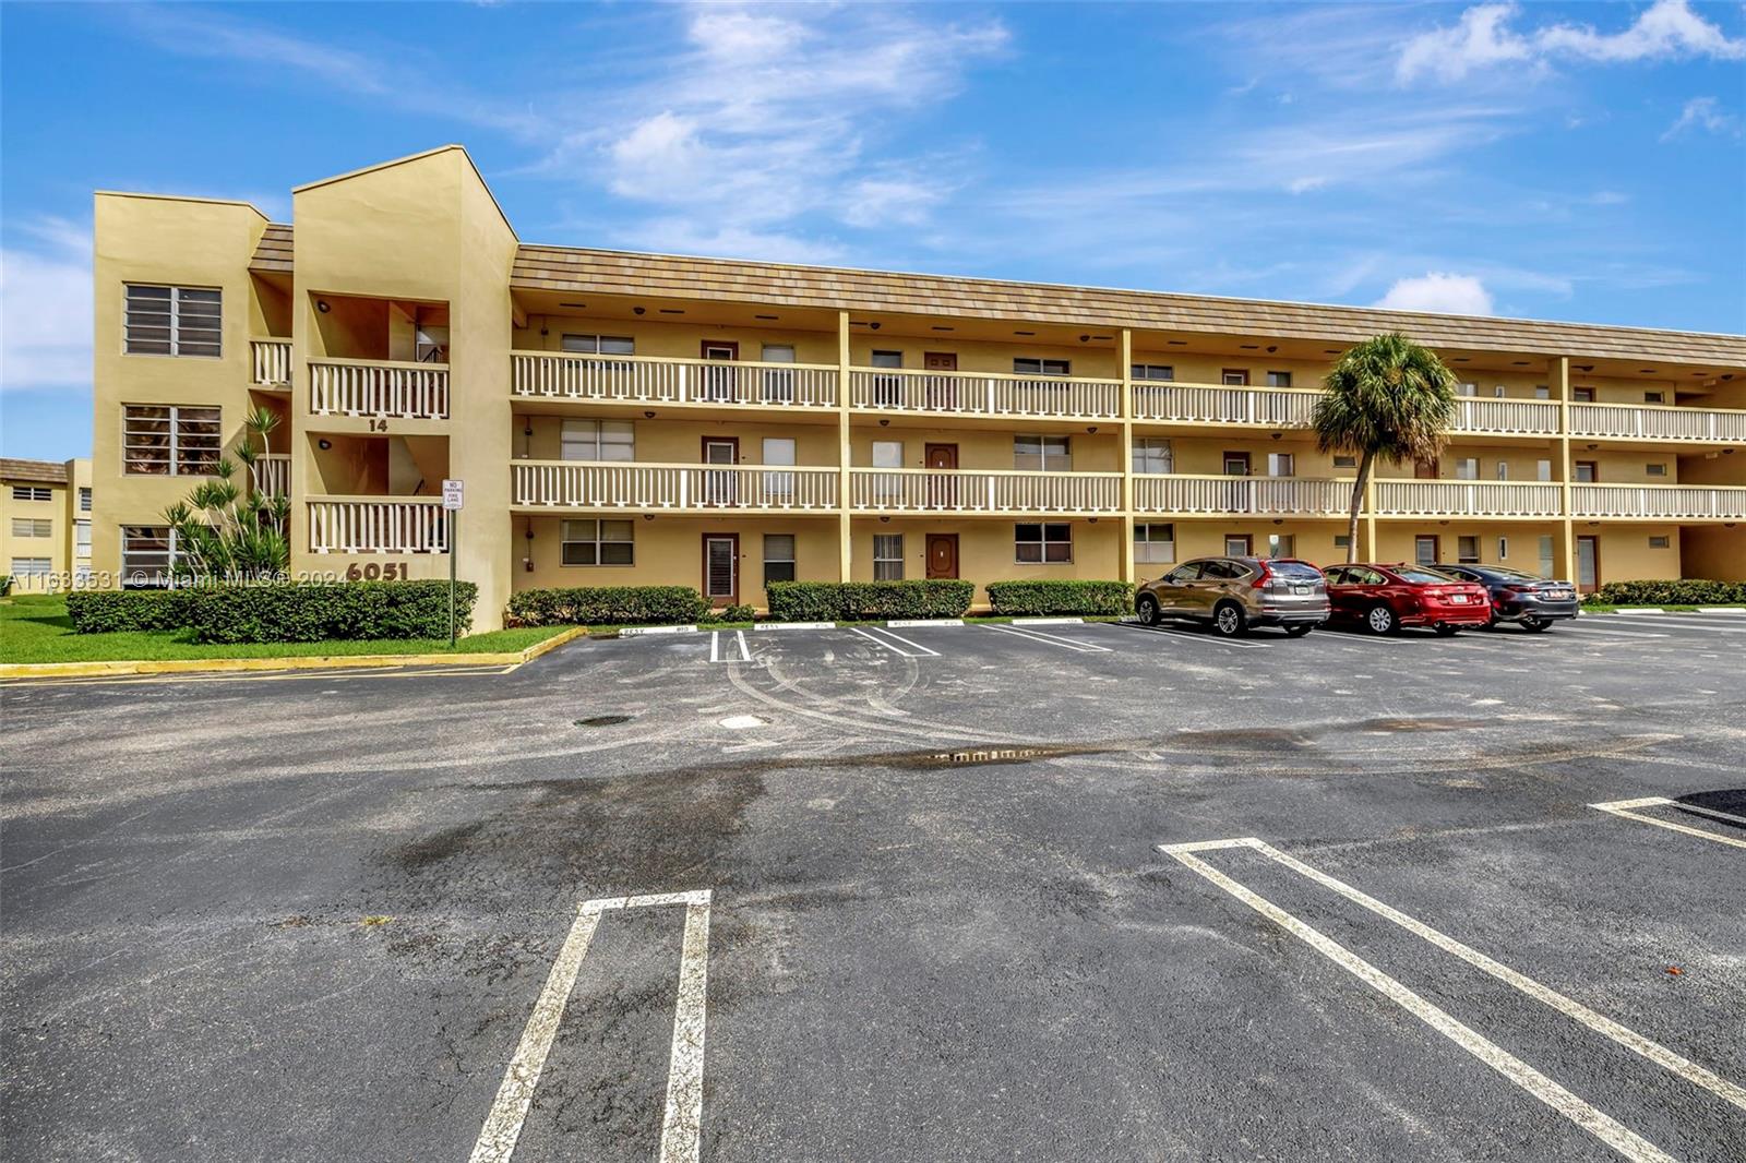
<svg viewBox="0 0 1746 1163"><path fill-rule="evenodd" d="M183 590L201 643L321 643L449 637L447 582L222 585ZM466 627L478 587L457 582L454 616Z"/></svg>

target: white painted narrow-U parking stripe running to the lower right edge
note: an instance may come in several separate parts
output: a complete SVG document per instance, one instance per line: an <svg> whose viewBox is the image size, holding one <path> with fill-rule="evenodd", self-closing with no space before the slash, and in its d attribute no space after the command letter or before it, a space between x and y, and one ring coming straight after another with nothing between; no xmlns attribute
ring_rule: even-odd
<svg viewBox="0 0 1746 1163"><path fill-rule="evenodd" d="M1549 988L1545 985L1540 985L1533 978L1529 978L1529 976L1526 976L1523 973L1517 973L1516 969L1510 969L1509 966L1505 966L1505 964L1502 964L1498 960L1493 960L1491 957L1481 953L1479 950L1472 948L1470 945L1463 945L1461 941L1456 941L1454 938L1451 938L1451 936L1447 936L1444 932L1439 932L1437 929L1432 929L1425 922L1416 920L1416 919L1402 913L1397 908L1383 905L1376 898L1372 898L1372 896L1365 894L1365 892L1360 892L1358 889L1351 887L1344 880L1336 880L1334 877L1329 877L1327 873L1311 868L1310 864L1299 861L1294 856L1287 856L1285 852L1280 852L1273 845L1269 845L1269 843L1266 843L1262 840L1257 840L1255 836L1241 836L1241 838L1236 838L1236 840L1210 842L1210 843L1208 842L1201 842L1198 845L1173 845L1173 843L1161 843L1161 845L1158 845L1158 849L1161 852L1165 852L1168 856L1173 856L1175 859L1182 861L1184 864L1187 864L1194 871L1201 873L1203 877L1206 877L1208 880L1212 880L1219 887L1226 889L1227 892L1231 892L1238 899L1243 899L1247 905L1250 905L1257 912L1262 912L1264 915L1271 917L1273 920L1278 920L1282 926L1285 926L1287 929L1290 929L1296 936L1301 936L1304 941L1310 941L1320 952L1323 952L1329 959L1339 962L1343 967L1346 967L1351 973L1358 974L1367 983L1371 983L1374 988L1378 988L1383 994L1388 994L1393 1001L1400 1002L1407 1009L1413 1009L1413 1006L1409 1006L1406 1001L1402 1001L1393 992L1390 992L1388 988L1385 988L1381 983L1378 983L1378 981L1371 980L1369 976L1365 976L1364 973L1360 973L1360 969L1357 969L1353 964L1348 964L1346 960L1343 960L1341 955L1344 955L1346 959L1351 959L1351 962L1357 962L1357 966L1364 966L1365 969L1369 969L1372 974L1376 974L1383 981L1393 981L1392 978L1385 978L1379 971L1376 971L1374 967L1371 967L1367 962L1364 962L1364 960L1357 959L1355 955L1348 953L1344 948L1341 948L1334 941L1329 941L1322 934L1315 932L1315 929L1310 929L1308 926L1304 926L1303 922L1296 920L1294 917L1290 917L1289 913L1285 913L1278 906L1264 901L1262 898L1255 896L1254 892L1250 892L1243 885L1236 884L1234 880L1231 880L1224 873L1217 871L1215 868L1212 868L1205 861L1201 861L1196 856L1193 856L1193 852L1205 852L1205 850L1210 850L1210 849L1215 849L1215 847L1231 847L1231 849L1238 849L1240 847L1240 849L1252 849L1255 852L1261 852L1268 859L1271 859L1271 861L1275 861L1278 864L1283 864L1285 868L1290 868L1292 871L1299 873L1301 877L1306 877L1306 878L1313 880L1315 884L1320 884L1320 885L1323 885L1327 889L1332 889L1334 892L1337 892L1343 898L1346 898L1353 905L1367 908L1369 912L1376 913L1378 917L1383 917L1385 920L1390 920L1390 922L1400 926L1407 932L1430 941L1437 948L1460 957L1467 964L1470 964L1475 969L1479 969L1479 971L1482 971L1482 973L1496 978L1498 981L1503 981L1505 985L1509 985L1509 987L1512 987L1512 988L1526 994L1528 997L1533 997L1535 1001L1543 1002L1543 1004L1550 1006L1552 1009L1557 1009L1559 1013L1563 1013L1568 1018L1575 1018L1577 1022L1584 1023L1591 1030L1594 1030L1594 1032L1598 1032L1598 1034L1601 1034L1601 1036L1605 1036L1605 1037L1619 1043L1626 1049L1629 1049L1629 1051L1633 1051L1636 1055L1641 1055L1643 1058L1648 1058L1655 1065L1659 1065L1659 1067L1662 1067L1666 1070L1671 1070L1673 1074L1678 1074L1685 1081L1694 1083L1697 1086L1702 1086L1704 1090L1708 1090L1713 1095L1723 1098L1725 1102L1730 1102L1736 1107L1739 1107L1741 1111L1746 1111L1746 1086L1739 1086L1737 1083L1730 1083L1729 1079L1722 1077L1720 1074L1715 1074L1713 1070L1708 1070L1708 1069L1697 1065L1695 1062L1688 1062L1687 1058L1681 1058L1680 1055L1673 1053L1671 1049L1667 1049L1660 1043L1650 1041L1650 1039L1643 1037L1641 1034L1638 1034L1636 1030L1631 1030L1631 1029L1620 1025L1619 1022L1613 1022L1612 1018L1608 1018L1605 1015L1599 1015L1594 1009L1589 1009L1582 1002L1578 1002L1575 999L1570 999L1570 997L1564 997L1557 990L1552 990L1552 988ZM1268 912L1268 910L1273 910L1273 912ZM1282 917L1285 920L1280 920ZM1294 926L1297 926L1297 927L1294 927ZM1299 927L1303 931L1299 931ZM1315 934L1316 938L1320 938L1322 943L1325 943L1325 946L1318 945L1310 936L1304 936L1304 932ZM1334 952L1330 952L1330 948L1337 950L1339 955L1336 955ZM1407 997L1414 997L1414 1001L1421 1001L1416 995L1413 995L1409 990L1406 990L1406 987L1400 987L1399 983L1393 983L1393 985L1397 985ZM1421 1004L1425 1004L1430 1011L1433 1011L1437 1015L1442 1015L1442 1011L1435 1009L1428 1002L1421 1001ZM1496 1046L1491 1046L1491 1043L1486 1043L1484 1039L1481 1039L1472 1030L1467 1030L1467 1027L1461 1027L1460 1023L1456 1023L1447 1015L1442 1015L1442 1018L1447 1020L1447 1022L1451 1022L1451 1023L1454 1023L1460 1030L1465 1030L1474 1039L1479 1039L1479 1043L1484 1043L1484 1046L1491 1046L1491 1049L1495 1049L1498 1055L1503 1055L1503 1058L1507 1058L1509 1062L1514 1062L1516 1067L1521 1067L1521 1070L1526 1070L1526 1074L1521 1076L1521 1077L1517 1077L1516 1074L1512 1074L1510 1069L1505 1069L1505 1065L1500 1065L1502 1060L1500 1062L1493 1062L1484 1053L1481 1053L1479 1049L1475 1049L1475 1046L1479 1043L1468 1044L1468 1043L1461 1041L1460 1037L1456 1037L1454 1034L1451 1034L1442 1025L1439 1025L1437 1022L1433 1022L1425 1013L1419 1013L1418 1009L1413 1009L1413 1011L1414 1011L1416 1016L1419 1016L1426 1023L1435 1025L1439 1030L1442 1030L1444 1034L1447 1034L1454 1041L1461 1043L1475 1056L1486 1058L1486 1062L1489 1065L1493 1065L1495 1069L1498 1069L1500 1072L1503 1072L1505 1076L1509 1076L1517 1084L1521 1084L1526 1090L1529 1090L1529 1093L1533 1093L1536 1098L1540 1098L1542 1102L1547 1102L1549 1105L1559 1109L1563 1114L1566 1114L1568 1118L1571 1118L1573 1121L1577 1121L1580 1126L1584 1126L1591 1133L1594 1133L1594 1135L1601 1137L1603 1140L1606 1140L1608 1146L1612 1146L1613 1149L1620 1151L1622 1154L1626 1154L1629 1158L1648 1158L1648 1160L1664 1160L1664 1158L1669 1158L1669 1156L1662 1154L1657 1147L1646 1144L1645 1140L1641 1140L1639 1137L1636 1137L1633 1132L1626 1130L1624 1126L1620 1126L1619 1123L1615 1123L1608 1116L1601 1114L1599 1111L1596 1111L1589 1104L1582 1102L1580 1098L1577 1098L1570 1091L1563 1090L1561 1086L1557 1086L1556 1083L1552 1083L1545 1076L1538 1074L1536 1070L1533 1070L1526 1063L1516 1062L1514 1058L1510 1058L1509 1055L1505 1055ZM1529 1084L1531 1079L1524 1081L1524 1077L1529 1077L1529 1076L1531 1076L1531 1079L1538 1079L1540 1083L1543 1083L1550 1090L1536 1090L1538 1083ZM1627 1139L1615 1139L1613 1137L1615 1132L1622 1132L1622 1135L1626 1135ZM1636 1149L1646 1149L1648 1154L1633 1154L1631 1149L1629 1149L1631 1146L1636 1146Z"/></svg>

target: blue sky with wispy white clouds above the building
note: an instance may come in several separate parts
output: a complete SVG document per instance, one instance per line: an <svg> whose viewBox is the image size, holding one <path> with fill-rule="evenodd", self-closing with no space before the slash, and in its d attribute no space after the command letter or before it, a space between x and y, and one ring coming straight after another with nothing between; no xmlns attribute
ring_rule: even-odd
<svg viewBox="0 0 1746 1163"><path fill-rule="evenodd" d="M522 239L1746 330L1741 3L26 5L0 451L91 444L91 190L464 143Z"/></svg>

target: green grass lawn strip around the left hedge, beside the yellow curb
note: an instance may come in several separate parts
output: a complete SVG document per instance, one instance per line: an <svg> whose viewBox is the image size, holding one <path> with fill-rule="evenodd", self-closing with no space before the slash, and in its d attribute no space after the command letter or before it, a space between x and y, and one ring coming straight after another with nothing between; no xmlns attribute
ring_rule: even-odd
<svg viewBox="0 0 1746 1163"><path fill-rule="evenodd" d="M456 655L526 650L569 627L524 627L470 634ZM309 655L447 655L449 639L386 639L368 643L246 643L201 644L192 630L73 634L59 594L16 594L0 599L0 662L136 662L166 658L300 658Z"/></svg>

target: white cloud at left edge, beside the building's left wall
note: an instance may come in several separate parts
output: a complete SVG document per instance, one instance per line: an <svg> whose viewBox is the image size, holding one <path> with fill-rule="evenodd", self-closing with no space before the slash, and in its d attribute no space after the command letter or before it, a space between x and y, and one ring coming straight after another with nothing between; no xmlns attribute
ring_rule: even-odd
<svg viewBox="0 0 1746 1163"><path fill-rule="evenodd" d="M23 224L40 250L0 251L0 389L91 382L91 232L65 218Z"/></svg>

